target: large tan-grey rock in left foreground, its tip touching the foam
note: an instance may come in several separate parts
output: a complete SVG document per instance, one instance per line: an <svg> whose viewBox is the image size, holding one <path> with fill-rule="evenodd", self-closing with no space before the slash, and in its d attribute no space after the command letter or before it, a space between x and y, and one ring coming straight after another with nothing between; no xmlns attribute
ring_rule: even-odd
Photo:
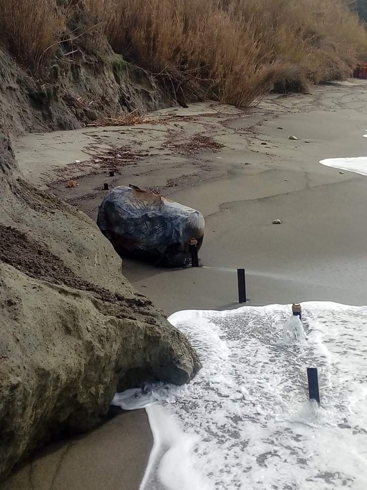
<svg viewBox="0 0 367 490"><path fill-rule="evenodd" d="M0 136L0 479L98 424L116 389L185 383L200 367L92 220L17 177Z"/></svg>

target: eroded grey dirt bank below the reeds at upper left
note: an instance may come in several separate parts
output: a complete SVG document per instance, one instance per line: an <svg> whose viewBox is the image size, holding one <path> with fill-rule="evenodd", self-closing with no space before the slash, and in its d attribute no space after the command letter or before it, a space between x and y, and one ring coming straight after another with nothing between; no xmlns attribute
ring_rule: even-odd
<svg viewBox="0 0 367 490"><path fill-rule="evenodd" d="M39 78L0 45L0 128L11 135L76 129L109 114L143 113L172 103L147 71L111 48L98 58L82 48L66 58L61 50Z"/></svg>

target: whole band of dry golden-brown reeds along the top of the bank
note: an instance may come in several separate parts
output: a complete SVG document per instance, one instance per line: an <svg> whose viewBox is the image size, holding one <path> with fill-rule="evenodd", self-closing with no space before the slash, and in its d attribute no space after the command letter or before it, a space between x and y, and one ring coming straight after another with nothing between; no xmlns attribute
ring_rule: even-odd
<svg viewBox="0 0 367 490"><path fill-rule="evenodd" d="M344 0L58 4L56 10L54 0L0 0L0 36L22 62L47 60L73 17L82 32L95 26L84 47L101 47L107 38L116 53L150 69L175 93L183 94L190 80L206 96L239 106L273 86L305 91L310 82L344 79L367 53L367 33Z"/></svg>

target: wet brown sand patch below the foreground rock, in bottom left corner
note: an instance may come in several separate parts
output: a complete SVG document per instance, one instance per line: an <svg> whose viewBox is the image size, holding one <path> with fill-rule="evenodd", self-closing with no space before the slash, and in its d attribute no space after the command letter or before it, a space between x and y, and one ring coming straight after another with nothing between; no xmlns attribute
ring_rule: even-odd
<svg viewBox="0 0 367 490"><path fill-rule="evenodd" d="M93 432L48 446L1 490L137 490L152 435L145 410L123 412Z"/></svg>

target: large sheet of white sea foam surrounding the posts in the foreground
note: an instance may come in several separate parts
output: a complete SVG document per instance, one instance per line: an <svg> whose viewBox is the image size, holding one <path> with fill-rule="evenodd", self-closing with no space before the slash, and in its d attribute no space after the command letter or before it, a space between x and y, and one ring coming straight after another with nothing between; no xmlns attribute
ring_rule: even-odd
<svg viewBox="0 0 367 490"><path fill-rule="evenodd" d="M303 303L306 339L284 336L298 328L291 315L271 305L169 318L203 367L188 385L150 387L141 490L365 490L367 308ZM308 401L307 367L321 406Z"/></svg>

